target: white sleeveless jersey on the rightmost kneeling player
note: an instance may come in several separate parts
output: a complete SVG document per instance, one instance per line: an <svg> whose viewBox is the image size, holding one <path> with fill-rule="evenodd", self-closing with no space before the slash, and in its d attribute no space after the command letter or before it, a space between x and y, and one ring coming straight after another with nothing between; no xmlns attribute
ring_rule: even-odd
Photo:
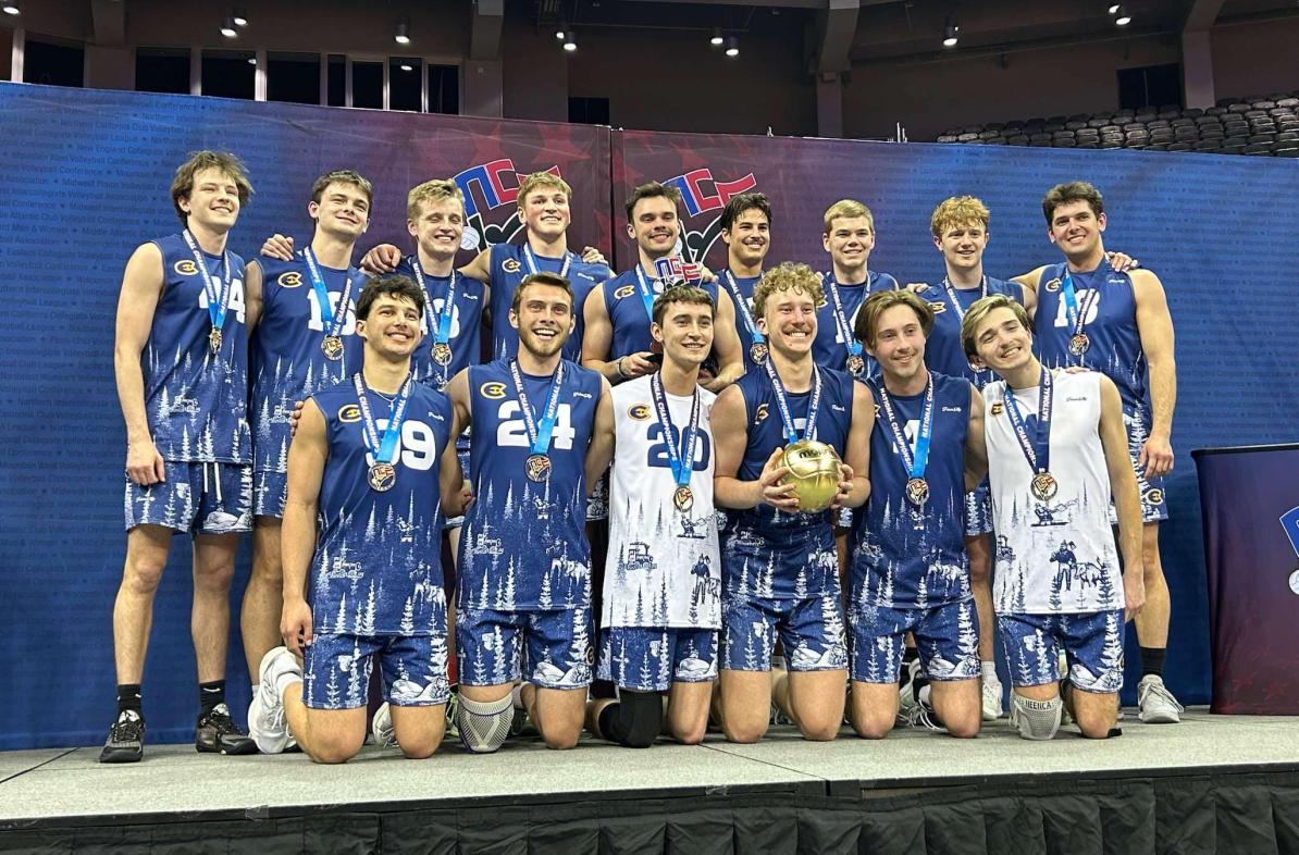
<svg viewBox="0 0 1299 855"><path fill-rule="evenodd" d="M1109 472L1100 443L1102 374L1056 372L1052 377L1050 466L1059 491L1044 502L1029 489L1033 469L1005 412L1005 381L983 389L998 613L1079 613L1124 606L1108 516ZM1015 400L1025 418L1037 418L1037 386L1016 391Z"/></svg>

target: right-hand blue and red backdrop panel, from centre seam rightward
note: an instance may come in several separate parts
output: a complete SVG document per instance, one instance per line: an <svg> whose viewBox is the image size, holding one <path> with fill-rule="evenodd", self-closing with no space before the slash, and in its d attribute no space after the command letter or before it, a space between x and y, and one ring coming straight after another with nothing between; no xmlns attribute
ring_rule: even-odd
<svg viewBox="0 0 1299 855"><path fill-rule="evenodd" d="M1135 151L617 134L614 201L651 179L681 188L686 252L712 270L726 265L718 226L726 200L755 190L774 209L768 266L795 260L827 272L822 214L839 199L857 199L876 221L870 269L904 283L942 281L929 220L947 196L969 194L987 204L992 217L985 269L1011 278L1063 260L1047 240L1043 194L1064 181L1096 185L1109 220L1105 247L1135 256L1160 277L1177 327L1177 461L1165 479L1172 518L1160 530L1173 609L1165 676L1183 702L1208 702L1204 551L1189 452L1296 435L1299 312L1287 272L1299 229L1293 217L1277 216L1299 190L1295 164ZM614 234L625 235L617 205L614 222ZM622 242L616 255L624 269L633 264L634 247ZM1291 483L1290 491L1287 507L1299 504L1299 487ZM1299 620L1299 596L1283 583L1277 596ZM1128 635L1124 698L1133 703L1141 660L1135 634ZM1251 643L1294 646L1293 639L1265 637Z"/></svg>

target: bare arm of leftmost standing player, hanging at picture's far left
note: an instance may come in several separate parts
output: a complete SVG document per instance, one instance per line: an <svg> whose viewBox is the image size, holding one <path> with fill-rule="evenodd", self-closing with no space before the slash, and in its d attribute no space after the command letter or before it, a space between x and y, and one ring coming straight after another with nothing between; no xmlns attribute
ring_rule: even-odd
<svg viewBox="0 0 1299 855"><path fill-rule="evenodd" d="M140 244L122 273L113 334L113 374L117 378L117 400L126 421L126 477L143 486L165 479L162 455L149 434L144 372L140 369L140 353L153 329L153 313L162 296L164 282L162 251L153 243Z"/></svg>

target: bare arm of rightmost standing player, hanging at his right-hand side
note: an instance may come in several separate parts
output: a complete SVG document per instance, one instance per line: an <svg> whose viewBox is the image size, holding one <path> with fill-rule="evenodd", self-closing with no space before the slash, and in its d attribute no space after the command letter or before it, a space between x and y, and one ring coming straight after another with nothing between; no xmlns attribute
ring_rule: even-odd
<svg viewBox="0 0 1299 855"><path fill-rule="evenodd" d="M1137 465L1147 478L1173 470L1173 408L1177 405L1177 360L1173 356L1173 317L1159 277L1150 270L1131 274L1137 299L1137 333L1150 370L1150 437L1142 446Z"/></svg>

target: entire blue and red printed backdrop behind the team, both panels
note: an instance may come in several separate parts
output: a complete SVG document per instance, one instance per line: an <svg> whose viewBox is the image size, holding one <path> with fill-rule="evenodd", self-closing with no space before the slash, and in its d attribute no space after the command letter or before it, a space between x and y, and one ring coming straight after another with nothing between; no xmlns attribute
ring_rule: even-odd
<svg viewBox="0 0 1299 855"><path fill-rule="evenodd" d="M1209 698L1204 563L1189 450L1294 438L1299 312L1282 281L1299 246L1294 164L1139 152L895 146L652 133L221 99L0 84L0 750L94 745L113 716L112 606L121 578L125 434L112 369L122 266L142 242L177 231L168 198L187 152L223 148L248 164L257 194L231 248L253 257L275 231L310 236L312 181L352 168L374 182L361 239L410 247L405 192L455 177L481 246L517 239L518 174L556 168L574 188L570 247L631 257L622 199L640 181L687 188L691 257L725 264L716 218L747 188L776 205L770 259L825 269L821 212L859 198L876 213L872 265L903 281L940 275L929 213L969 192L992 209L987 268L1009 275L1057 257L1042 192L1086 178L1107 195L1107 246L1168 285L1178 327L1174 515L1164 530L1173 590L1169 682ZM611 246L612 236L616 244ZM464 259L470 255L466 252ZM1299 504L1295 502L1294 504ZM1246 511L1247 512L1247 511ZM231 600L248 576L247 546ZM155 608L144 674L149 741L192 738L197 690L188 641L188 548L178 539ZM1299 599L1294 600L1299 609ZM238 609L235 609L238 616ZM1296 611L1299 616L1299 611ZM1260 644L1270 643L1260 639ZM1134 654L1135 651L1133 651ZM1135 655L1130 656L1135 667ZM1134 676L1131 673L1130 676ZM230 702L242 720L248 677L231 626Z"/></svg>

